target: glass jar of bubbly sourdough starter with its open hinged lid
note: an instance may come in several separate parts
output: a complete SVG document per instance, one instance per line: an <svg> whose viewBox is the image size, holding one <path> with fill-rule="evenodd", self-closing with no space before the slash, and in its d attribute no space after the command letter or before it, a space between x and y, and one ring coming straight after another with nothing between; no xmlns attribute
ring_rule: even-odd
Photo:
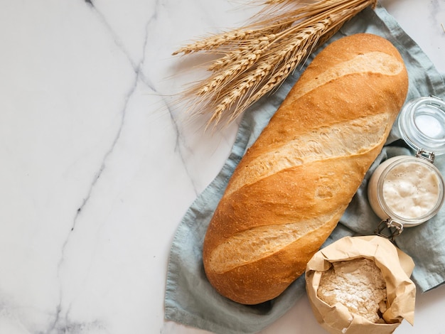
<svg viewBox="0 0 445 334"><path fill-rule="evenodd" d="M444 178L434 158L445 153L445 102L432 96L414 99L400 112L397 126L416 155L384 161L368 184L370 205L382 219L375 233L390 239L434 217L444 203Z"/></svg>

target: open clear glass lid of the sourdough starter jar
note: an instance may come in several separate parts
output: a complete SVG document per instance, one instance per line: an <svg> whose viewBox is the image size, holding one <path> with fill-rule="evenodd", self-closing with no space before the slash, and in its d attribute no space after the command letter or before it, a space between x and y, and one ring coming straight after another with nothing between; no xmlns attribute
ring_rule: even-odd
<svg viewBox="0 0 445 334"><path fill-rule="evenodd" d="M445 153L445 102L439 97L419 97L399 114L402 139L417 151Z"/></svg>

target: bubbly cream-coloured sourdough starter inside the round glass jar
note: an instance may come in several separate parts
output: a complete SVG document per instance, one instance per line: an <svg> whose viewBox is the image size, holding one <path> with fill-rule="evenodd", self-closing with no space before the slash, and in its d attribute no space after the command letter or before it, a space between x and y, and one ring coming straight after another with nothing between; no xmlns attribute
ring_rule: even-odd
<svg viewBox="0 0 445 334"><path fill-rule="evenodd" d="M422 163L406 162L392 168L382 187L387 207L404 219L422 217L439 200L439 178Z"/></svg>

